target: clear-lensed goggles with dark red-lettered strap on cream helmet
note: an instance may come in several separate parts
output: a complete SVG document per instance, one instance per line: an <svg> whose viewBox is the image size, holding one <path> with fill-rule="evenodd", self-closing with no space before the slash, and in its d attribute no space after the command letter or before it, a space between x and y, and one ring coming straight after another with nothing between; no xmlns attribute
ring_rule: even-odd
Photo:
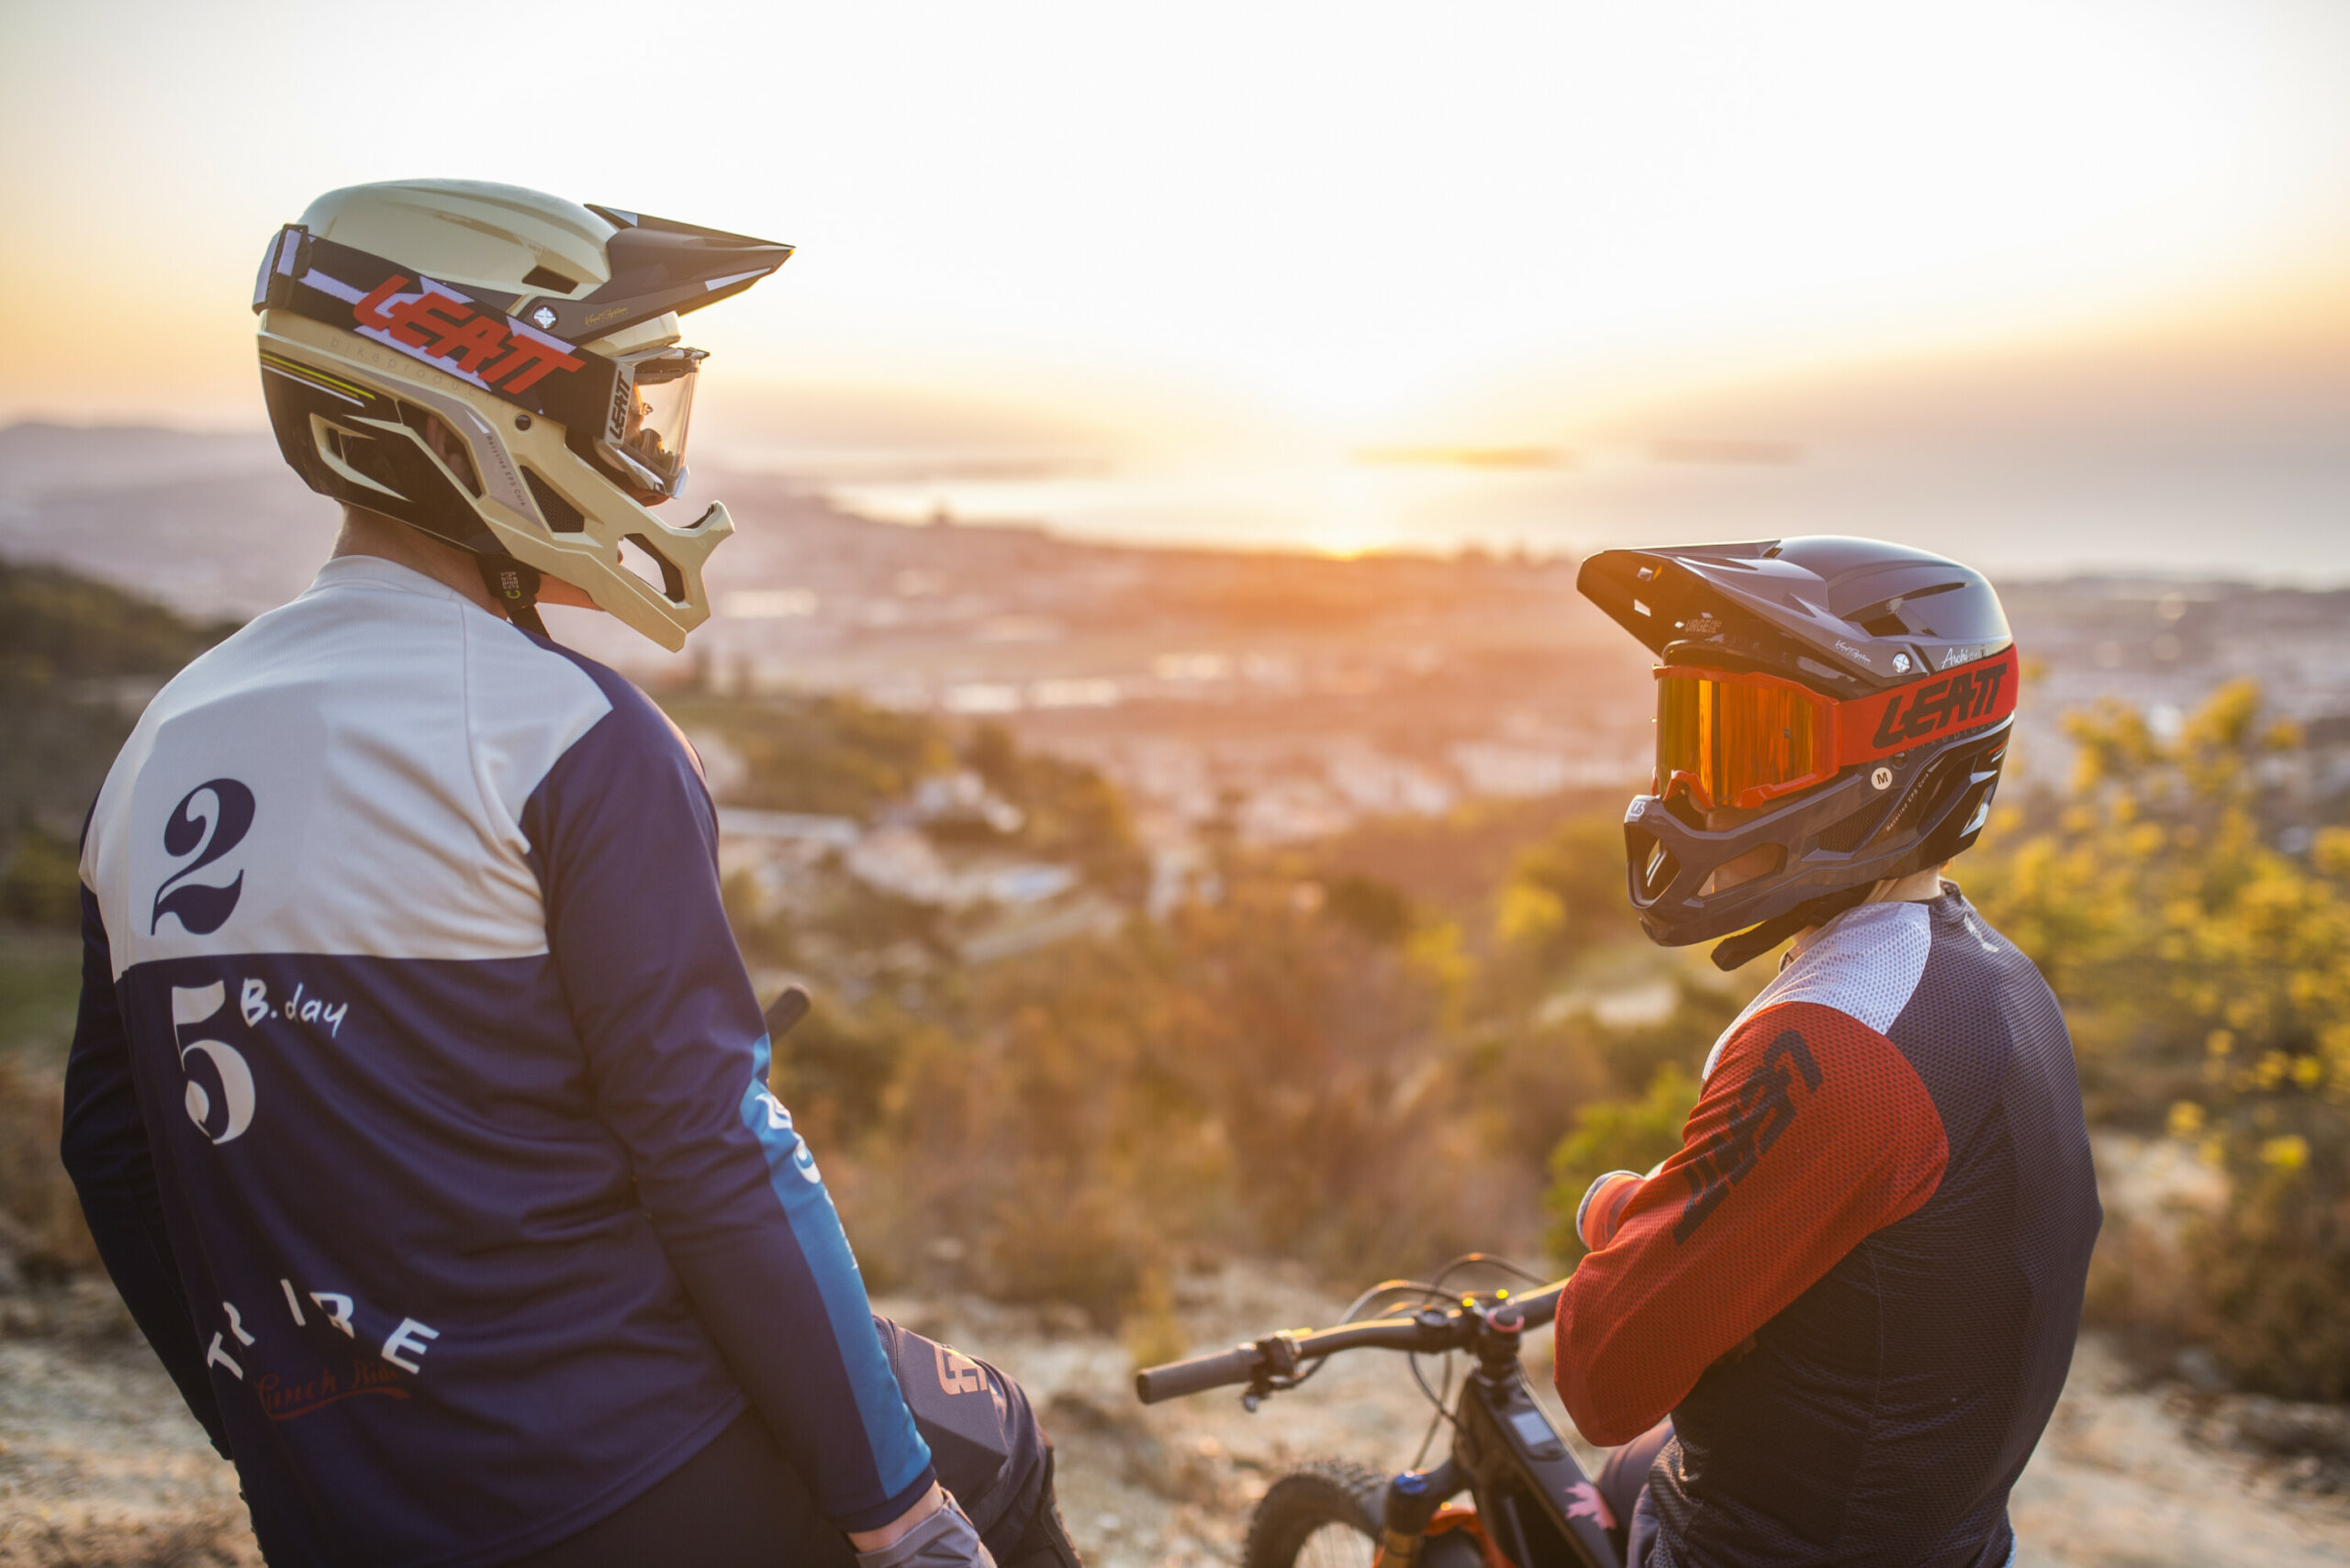
<svg viewBox="0 0 2350 1568"><path fill-rule="evenodd" d="M409 277L400 263L320 239L289 223L261 258L254 310L289 310L456 376L555 420L639 500L686 484L686 420L698 347L606 357L508 315L524 296ZM531 317L555 319L552 307Z"/></svg>

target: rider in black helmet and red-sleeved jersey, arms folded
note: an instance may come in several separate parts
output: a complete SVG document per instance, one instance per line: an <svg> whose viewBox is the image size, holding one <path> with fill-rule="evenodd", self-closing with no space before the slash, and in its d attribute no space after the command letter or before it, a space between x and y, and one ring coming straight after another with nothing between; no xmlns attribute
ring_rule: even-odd
<svg viewBox="0 0 2350 1568"><path fill-rule="evenodd" d="M1577 1211L1558 1392L1624 1444L1626 1561L1995 1568L2101 1221L2056 998L1941 878L2014 725L1998 594L1849 538L1610 549L1577 587L1661 660L1640 925L1725 969L1795 937L1680 1153Z"/></svg>

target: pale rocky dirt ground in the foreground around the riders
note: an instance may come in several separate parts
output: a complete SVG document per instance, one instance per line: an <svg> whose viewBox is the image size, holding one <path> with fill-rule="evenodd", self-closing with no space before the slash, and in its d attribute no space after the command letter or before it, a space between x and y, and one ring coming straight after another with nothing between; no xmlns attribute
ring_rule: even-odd
<svg viewBox="0 0 2350 1568"><path fill-rule="evenodd" d="M1403 1364L1377 1352L1332 1361L1255 1415L1229 1394L1142 1408L1130 1352L1079 1319L968 1298L879 1305L1027 1383L1060 1446L1069 1530L1102 1566L1231 1563L1250 1505L1285 1467L1401 1467L1429 1425ZM1182 1282L1175 1329L1217 1347L1330 1322L1340 1305L1297 1275L1234 1268ZM2148 1385L2092 1336L2014 1519L2023 1563L2343 1563L2350 1422L2331 1406ZM92 1282L0 1298L0 1566L14 1563L258 1563L233 1472Z"/></svg>

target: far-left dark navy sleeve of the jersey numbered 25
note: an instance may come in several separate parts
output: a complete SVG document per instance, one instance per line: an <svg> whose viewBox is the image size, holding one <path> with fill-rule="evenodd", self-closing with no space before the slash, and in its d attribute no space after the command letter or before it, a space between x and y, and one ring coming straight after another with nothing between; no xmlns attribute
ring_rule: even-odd
<svg viewBox="0 0 2350 1568"><path fill-rule="evenodd" d="M228 1455L228 1430L204 1376L204 1347L181 1286L172 1237L164 1232L155 1153L139 1115L132 1047L115 995L113 953L99 899L82 887L82 1002L66 1056L66 1110L59 1157L73 1178L89 1239L99 1246L122 1305L155 1359L172 1373L179 1397L202 1422L212 1446Z"/></svg>

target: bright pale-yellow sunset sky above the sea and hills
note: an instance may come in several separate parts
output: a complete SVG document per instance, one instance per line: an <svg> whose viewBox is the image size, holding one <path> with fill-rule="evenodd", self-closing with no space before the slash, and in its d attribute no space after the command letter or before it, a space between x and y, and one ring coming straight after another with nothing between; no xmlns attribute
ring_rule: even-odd
<svg viewBox="0 0 2350 1568"><path fill-rule="evenodd" d="M85 2L0 12L0 420L258 427L270 230L468 174L799 244L693 322L696 455L884 509L1344 549L1438 538L1415 465L1525 538L1711 521L1659 453L1786 455L1802 509L1904 462L2080 493L2181 432L2171 500L2350 502L2334 0ZM1349 521L1365 453L1408 462Z"/></svg>

